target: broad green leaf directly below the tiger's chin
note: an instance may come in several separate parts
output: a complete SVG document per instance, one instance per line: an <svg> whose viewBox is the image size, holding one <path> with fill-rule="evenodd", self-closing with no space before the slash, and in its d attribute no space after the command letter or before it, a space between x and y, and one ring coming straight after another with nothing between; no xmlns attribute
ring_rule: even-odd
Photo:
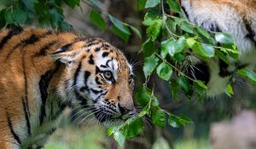
<svg viewBox="0 0 256 149"><path fill-rule="evenodd" d="M142 132L143 126L144 124L141 117L132 118L126 121L121 132L125 137L133 138Z"/></svg>

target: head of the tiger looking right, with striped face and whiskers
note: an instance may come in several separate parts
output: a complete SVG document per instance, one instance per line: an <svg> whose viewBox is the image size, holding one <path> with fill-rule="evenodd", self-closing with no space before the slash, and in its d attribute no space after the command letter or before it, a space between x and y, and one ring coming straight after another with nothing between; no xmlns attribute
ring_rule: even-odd
<svg viewBox="0 0 256 149"><path fill-rule="evenodd" d="M67 44L51 55L65 64L58 93L72 106L89 109L108 126L123 123L135 114L134 74L119 49L101 38L88 38Z"/></svg>

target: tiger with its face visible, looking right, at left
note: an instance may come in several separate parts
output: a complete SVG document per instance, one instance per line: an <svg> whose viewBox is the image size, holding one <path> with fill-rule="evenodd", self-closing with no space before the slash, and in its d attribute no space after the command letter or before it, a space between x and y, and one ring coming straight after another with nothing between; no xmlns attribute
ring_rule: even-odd
<svg viewBox="0 0 256 149"><path fill-rule="evenodd" d="M0 32L0 148L42 148L66 107L106 127L135 114L134 73L99 37L14 27Z"/></svg>

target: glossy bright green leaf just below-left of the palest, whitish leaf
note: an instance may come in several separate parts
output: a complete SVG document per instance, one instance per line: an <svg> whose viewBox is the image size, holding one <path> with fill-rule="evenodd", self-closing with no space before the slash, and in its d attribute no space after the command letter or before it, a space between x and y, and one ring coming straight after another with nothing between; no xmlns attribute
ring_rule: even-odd
<svg viewBox="0 0 256 149"><path fill-rule="evenodd" d="M215 54L215 50L212 47L212 45L207 44L207 43L196 43L193 47L193 50L195 50L195 52L197 54L200 54L203 57L213 57Z"/></svg>

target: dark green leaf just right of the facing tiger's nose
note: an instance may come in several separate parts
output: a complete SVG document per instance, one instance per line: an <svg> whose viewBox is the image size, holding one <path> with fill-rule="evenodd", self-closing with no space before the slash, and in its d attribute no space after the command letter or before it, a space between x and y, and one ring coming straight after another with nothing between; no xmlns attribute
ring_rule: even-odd
<svg viewBox="0 0 256 149"><path fill-rule="evenodd" d="M148 88L142 87L137 90L136 100L140 106L147 106L151 98L151 91Z"/></svg>

